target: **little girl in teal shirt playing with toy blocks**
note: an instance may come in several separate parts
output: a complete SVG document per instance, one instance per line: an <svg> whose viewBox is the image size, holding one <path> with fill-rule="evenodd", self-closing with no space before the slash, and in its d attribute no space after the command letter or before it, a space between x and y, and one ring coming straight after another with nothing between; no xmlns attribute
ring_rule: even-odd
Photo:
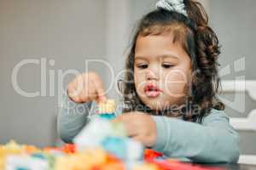
<svg viewBox="0 0 256 170"><path fill-rule="evenodd" d="M137 27L120 86L125 114L114 121L166 156L236 162L239 137L216 99L220 52L204 8L193 0L160 0L156 7ZM89 122L92 101L104 102L104 94L94 72L69 83L58 118L61 139L72 142Z"/></svg>

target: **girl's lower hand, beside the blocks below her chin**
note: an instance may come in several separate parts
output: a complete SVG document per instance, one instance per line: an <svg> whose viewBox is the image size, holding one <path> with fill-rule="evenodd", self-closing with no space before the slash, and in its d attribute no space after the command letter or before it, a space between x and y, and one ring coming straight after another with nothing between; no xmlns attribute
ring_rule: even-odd
<svg viewBox="0 0 256 170"><path fill-rule="evenodd" d="M118 116L113 122L123 122L127 135L152 147L156 140L156 125L153 118L143 112L134 111Z"/></svg>

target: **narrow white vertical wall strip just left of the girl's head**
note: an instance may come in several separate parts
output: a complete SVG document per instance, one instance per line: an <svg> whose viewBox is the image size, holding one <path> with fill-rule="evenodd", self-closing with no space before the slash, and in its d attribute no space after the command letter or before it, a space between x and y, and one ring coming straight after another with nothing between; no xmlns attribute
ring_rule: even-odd
<svg viewBox="0 0 256 170"><path fill-rule="evenodd" d="M108 0L107 5L107 58L113 69L113 75L109 75L106 88L110 89L109 98L117 98L117 80L122 77L118 73L125 68L125 48L128 46L128 31L130 15L130 1Z"/></svg>

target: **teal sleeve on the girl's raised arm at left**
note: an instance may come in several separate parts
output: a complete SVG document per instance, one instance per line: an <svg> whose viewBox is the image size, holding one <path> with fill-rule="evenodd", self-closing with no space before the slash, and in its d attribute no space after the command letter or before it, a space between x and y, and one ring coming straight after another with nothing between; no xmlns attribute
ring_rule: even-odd
<svg viewBox="0 0 256 170"><path fill-rule="evenodd" d="M57 130L64 142L72 143L73 138L89 122L91 105L92 102L75 103L64 94L57 121Z"/></svg>

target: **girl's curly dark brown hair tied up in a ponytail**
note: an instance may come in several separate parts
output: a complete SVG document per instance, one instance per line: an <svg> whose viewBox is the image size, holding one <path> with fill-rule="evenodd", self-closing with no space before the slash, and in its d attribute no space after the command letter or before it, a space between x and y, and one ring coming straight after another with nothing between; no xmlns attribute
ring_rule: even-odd
<svg viewBox="0 0 256 170"><path fill-rule="evenodd" d="M218 55L220 46L215 32L208 26L208 16L201 3L184 0L188 17L177 12L165 9L155 9L143 16L139 21L135 36L131 42L131 50L125 63L125 80L119 88L124 94L124 102L127 111L141 111L147 108L139 99L134 84L134 56L137 37L149 35L163 35L172 33L173 42L178 42L189 54L191 59L193 77L189 86L189 102L185 105L184 120L201 122L211 109L224 110L224 105L218 101L216 94L220 85L218 77ZM201 110L197 114L191 105L200 105ZM190 109L189 109L190 108ZM143 110L154 114L150 109Z"/></svg>

